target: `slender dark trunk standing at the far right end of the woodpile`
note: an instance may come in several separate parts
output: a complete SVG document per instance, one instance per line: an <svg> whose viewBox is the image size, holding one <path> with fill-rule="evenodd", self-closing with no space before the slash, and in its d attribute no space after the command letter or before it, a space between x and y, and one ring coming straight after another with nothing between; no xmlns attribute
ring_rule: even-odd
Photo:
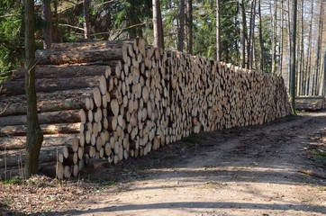
<svg viewBox="0 0 326 216"><path fill-rule="evenodd" d="M291 82L290 82L290 97L291 97L291 105L293 112L295 114L295 62L296 62L296 16L297 16L297 0L293 0L293 29L292 29L292 51L291 51Z"/></svg>

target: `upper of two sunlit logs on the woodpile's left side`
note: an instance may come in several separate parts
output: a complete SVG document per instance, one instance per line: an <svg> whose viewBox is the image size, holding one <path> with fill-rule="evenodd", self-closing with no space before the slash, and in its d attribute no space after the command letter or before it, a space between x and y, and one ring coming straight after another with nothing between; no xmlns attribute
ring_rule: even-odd
<svg viewBox="0 0 326 216"><path fill-rule="evenodd" d="M60 123L60 124L41 124L43 134L59 133L79 133L80 122L77 123ZM0 137L5 136L25 136L26 125L3 126L0 128Z"/></svg>

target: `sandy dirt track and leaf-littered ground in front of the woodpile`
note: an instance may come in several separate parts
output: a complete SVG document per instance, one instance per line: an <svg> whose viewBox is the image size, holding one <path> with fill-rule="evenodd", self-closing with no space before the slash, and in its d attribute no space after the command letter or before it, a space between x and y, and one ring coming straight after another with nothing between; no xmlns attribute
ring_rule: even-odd
<svg viewBox="0 0 326 216"><path fill-rule="evenodd" d="M0 184L4 215L326 215L326 112L201 133L59 183Z"/></svg>

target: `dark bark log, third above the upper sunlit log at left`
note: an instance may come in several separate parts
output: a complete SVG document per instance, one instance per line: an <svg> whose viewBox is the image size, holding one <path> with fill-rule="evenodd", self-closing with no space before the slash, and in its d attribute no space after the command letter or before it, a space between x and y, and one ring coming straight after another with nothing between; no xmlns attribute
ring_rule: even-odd
<svg viewBox="0 0 326 216"><path fill-rule="evenodd" d="M100 83L100 76L78 76L69 78L36 79L37 92L55 92L68 89L95 87ZM0 95L12 96L25 94L24 81L7 81L2 84Z"/></svg>

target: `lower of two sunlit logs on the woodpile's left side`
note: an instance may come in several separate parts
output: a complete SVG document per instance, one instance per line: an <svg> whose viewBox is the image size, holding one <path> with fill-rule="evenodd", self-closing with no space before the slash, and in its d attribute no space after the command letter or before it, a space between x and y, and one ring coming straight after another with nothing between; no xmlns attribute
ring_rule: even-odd
<svg viewBox="0 0 326 216"><path fill-rule="evenodd" d="M44 135L42 147L70 145L76 134L54 134ZM21 149L25 148L26 137L0 137L0 150Z"/></svg>

